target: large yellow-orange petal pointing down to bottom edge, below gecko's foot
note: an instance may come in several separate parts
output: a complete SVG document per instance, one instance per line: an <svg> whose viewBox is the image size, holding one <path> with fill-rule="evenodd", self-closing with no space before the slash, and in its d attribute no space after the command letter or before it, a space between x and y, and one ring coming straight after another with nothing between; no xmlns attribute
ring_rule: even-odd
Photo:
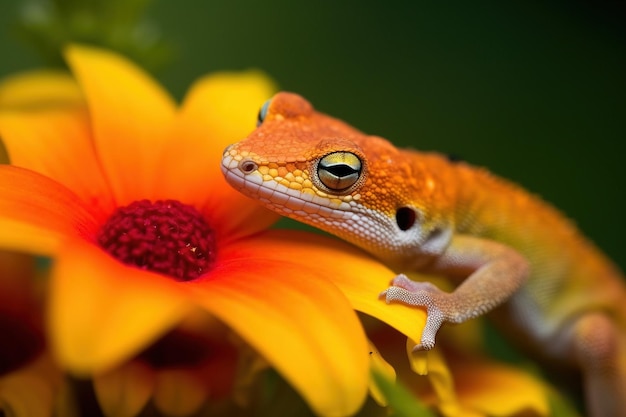
<svg viewBox="0 0 626 417"><path fill-rule="evenodd" d="M205 278L187 284L198 302L272 364L322 416L350 415L368 385L368 348L348 301L327 280L289 261L256 254L220 256Z"/></svg>

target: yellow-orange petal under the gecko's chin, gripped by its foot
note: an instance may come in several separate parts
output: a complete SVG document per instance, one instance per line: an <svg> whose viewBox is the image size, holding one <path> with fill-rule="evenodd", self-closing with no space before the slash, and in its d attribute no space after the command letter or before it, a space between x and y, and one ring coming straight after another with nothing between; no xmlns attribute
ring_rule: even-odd
<svg viewBox="0 0 626 417"><path fill-rule="evenodd" d="M376 317L414 340L421 337L426 323L424 310L399 303L386 304L379 297L395 273L347 243L295 230L271 230L235 247L237 257L262 256L296 268L299 265L326 277L345 294L355 310Z"/></svg>

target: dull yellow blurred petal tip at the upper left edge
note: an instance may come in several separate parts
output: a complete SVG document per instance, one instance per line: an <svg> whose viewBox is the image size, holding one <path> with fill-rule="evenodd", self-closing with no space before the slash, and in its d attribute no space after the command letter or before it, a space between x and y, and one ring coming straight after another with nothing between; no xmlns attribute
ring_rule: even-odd
<svg viewBox="0 0 626 417"><path fill-rule="evenodd" d="M0 83L2 110L74 107L83 103L83 94L76 81L64 71L24 72Z"/></svg>

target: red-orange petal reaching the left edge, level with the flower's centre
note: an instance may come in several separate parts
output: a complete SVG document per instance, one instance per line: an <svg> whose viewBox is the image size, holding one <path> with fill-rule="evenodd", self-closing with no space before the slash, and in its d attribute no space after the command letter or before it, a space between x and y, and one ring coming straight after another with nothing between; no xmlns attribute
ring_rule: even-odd
<svg viewBox="0 0 626 417"><path fill-rule="evenodd" d="M62 238L93 239L98 223L78 196L35 172L0 166L0 244L50 254Z"/></svg>

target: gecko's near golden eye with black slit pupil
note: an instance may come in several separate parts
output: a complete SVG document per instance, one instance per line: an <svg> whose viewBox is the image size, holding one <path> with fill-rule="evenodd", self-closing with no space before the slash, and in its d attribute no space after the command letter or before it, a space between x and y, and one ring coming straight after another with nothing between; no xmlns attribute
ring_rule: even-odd
<svg viewBox="0 0 626 417"><path fill-rule="evenodd" d="M361 160L350 152L333 152L317 164L317 177L331 191L352 187L361 177Z"/></svg>

